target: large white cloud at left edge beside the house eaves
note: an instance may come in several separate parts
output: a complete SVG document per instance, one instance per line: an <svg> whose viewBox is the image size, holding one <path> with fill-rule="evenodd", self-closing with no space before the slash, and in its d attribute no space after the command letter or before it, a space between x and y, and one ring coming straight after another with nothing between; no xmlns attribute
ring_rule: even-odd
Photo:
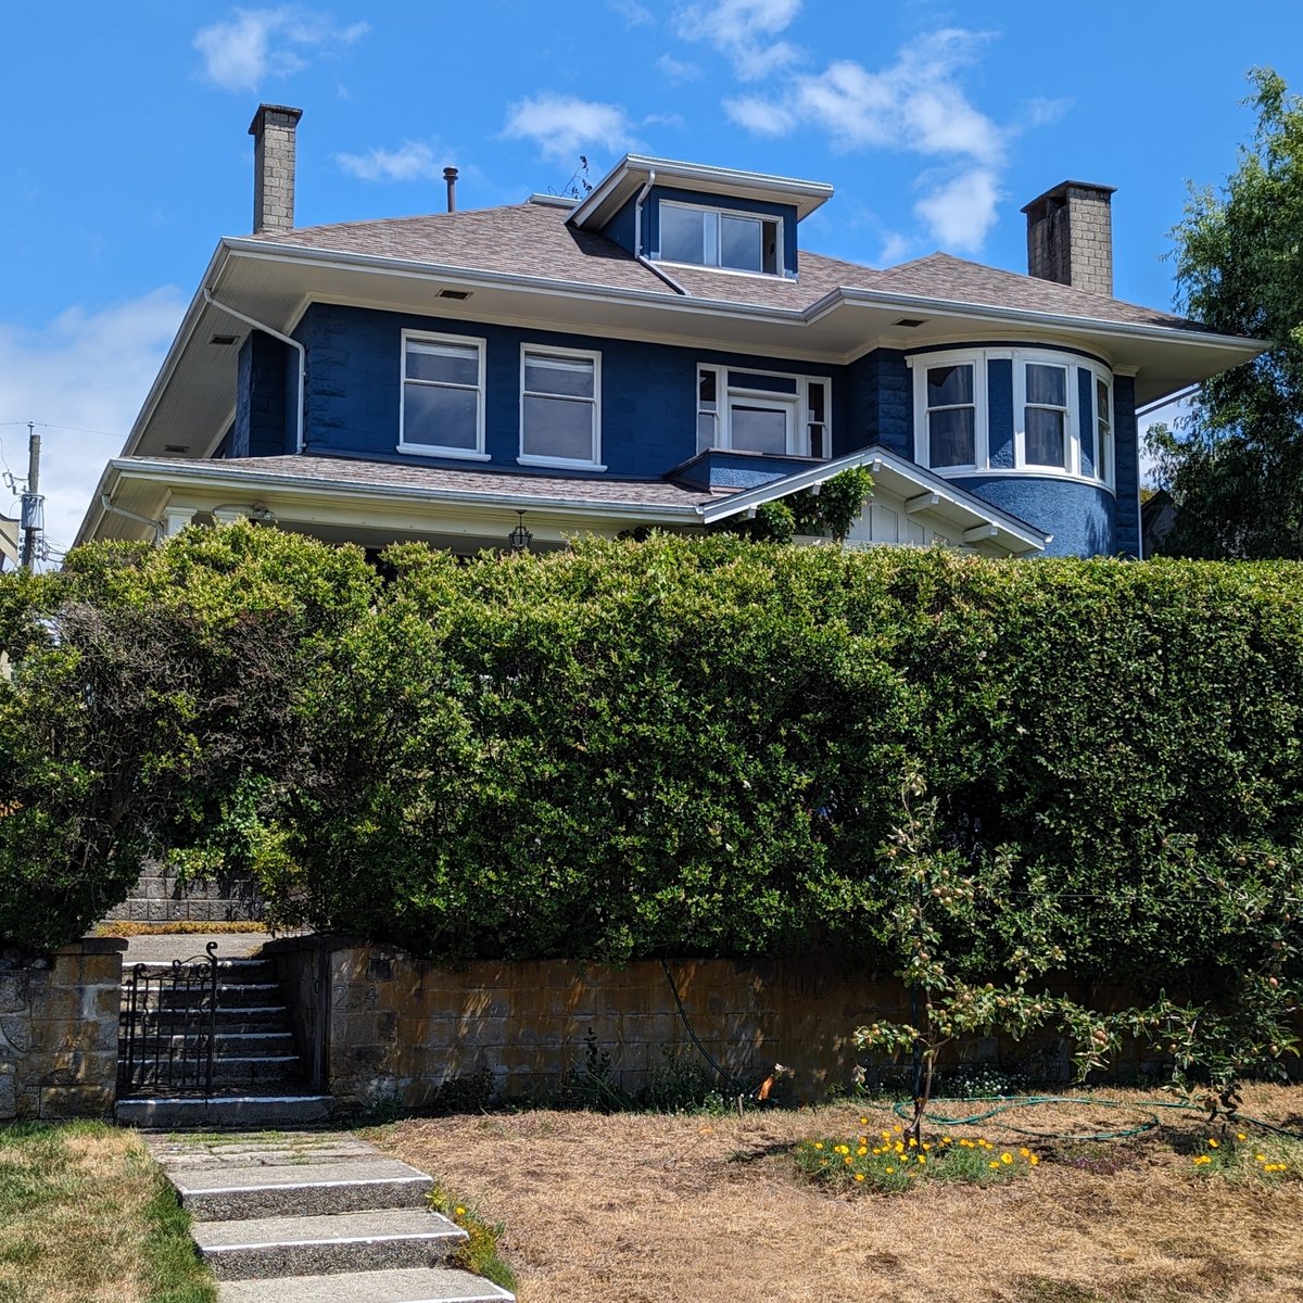
<svg viewBox="0 0 1303 1303"><path fill-rule="evenodd" d="M52 547L72 543L185 306L180 289L164 285L99 311L69 308L36 330L0 322L0 421L38 425L46 537ZM9 469L25 476L26 427L3 425L0 440ZM0 494L0 512L17 515L7 494Z"/></svg>

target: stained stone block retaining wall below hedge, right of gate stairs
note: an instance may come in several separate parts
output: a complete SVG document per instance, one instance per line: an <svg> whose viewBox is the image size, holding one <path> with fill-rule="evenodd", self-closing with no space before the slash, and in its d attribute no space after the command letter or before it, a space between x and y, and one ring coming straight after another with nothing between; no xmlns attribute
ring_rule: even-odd
<svg viewBox="0 0 1303 1303"><path fill-rule="evenodd" d="M319 947L327 980L317 980ZM311 1003L328 988L323 1088L340 1114L421 1109L440 1091L482 1074L491 1075L495 1097L546 1096L584 1066L589 1040L599 1055L610 1055L619 1083L631 1091L663 1070L667 1055L681 1052L698 1061L658 962L623 969L481 962L448 971L394 947L330 938L289 938L270 950L297 995L302 1029ZM685 959L670 969L710 1054L752 1088L783 1065L791 1074L780 1075L778 1089L788 1101L850 1091L861 1057L853 1029L908 1018L898 980L812 960ZM1092 995L1098 1007L1110 1007L1110 993ZM1046 1080L1066 1080L1071 1071L1068 1045L1055 1036L1022 1044L975 1037L958 1053L959 1062L1023 1065ZM1132 1057L1115 1076L1134 1078L1143 1066ZM868 1084L877 1084L873 1075Z"/></svg>

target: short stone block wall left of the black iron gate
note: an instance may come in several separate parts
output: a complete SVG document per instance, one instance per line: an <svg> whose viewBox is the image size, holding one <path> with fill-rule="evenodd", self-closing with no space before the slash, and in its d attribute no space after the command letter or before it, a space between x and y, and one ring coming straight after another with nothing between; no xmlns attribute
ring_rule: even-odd
<svg viewBox="0 0 1303 1303"><path fill-rule="evenodd" d="M0 959L0 1121L107 1117L117 1087L119 937Z"/></svg>

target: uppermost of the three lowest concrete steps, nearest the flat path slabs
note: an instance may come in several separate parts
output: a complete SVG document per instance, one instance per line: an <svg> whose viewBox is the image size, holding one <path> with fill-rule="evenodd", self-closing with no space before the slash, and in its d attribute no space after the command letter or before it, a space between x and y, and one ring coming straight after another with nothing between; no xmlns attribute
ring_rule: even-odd
<svg viewBox="0 0 1303 1303"><path fill-rule="evenodd" d="M172 1173L186 1210L197 1220L425 1210L434 1182L396 1158L197 1167Z"/></svg>

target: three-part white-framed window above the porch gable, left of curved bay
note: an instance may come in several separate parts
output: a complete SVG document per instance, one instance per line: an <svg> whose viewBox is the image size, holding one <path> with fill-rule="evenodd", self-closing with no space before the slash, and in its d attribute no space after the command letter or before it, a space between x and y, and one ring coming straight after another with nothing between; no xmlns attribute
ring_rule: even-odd
<svg viewBox="0 0 1303 1303"><path fill-rule="evenodd" d="M697 369L697 452L731 448L829 456L827 380L723 366Z"/></svg>

